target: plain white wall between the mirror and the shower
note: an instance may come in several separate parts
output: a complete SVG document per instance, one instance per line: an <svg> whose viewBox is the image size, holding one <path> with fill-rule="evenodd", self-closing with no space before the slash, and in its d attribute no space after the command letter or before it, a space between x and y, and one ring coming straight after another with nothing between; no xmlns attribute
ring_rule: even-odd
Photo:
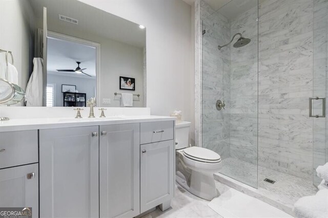
<svg viewBox="0 0 328 218"><path fill-rule="evenodd" d="M191 6L182 0L79 1L146 26L147 106L153 115L179 109L194 123Z"/></svg>

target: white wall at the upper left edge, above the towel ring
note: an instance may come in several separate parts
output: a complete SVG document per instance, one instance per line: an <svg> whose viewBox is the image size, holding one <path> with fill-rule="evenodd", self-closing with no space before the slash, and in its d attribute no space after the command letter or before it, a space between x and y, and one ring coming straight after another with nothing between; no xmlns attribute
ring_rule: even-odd
<svg viewBox="0 0 328 218"><path fill-rule="evenodd" d="M0 49L9 50L18 71L18 85L26 88L32 70L34 32L32 8L27 1L0 1ZM5 63L5 53L0 53L0 63ZM9 57L9 62L11 59Z"/></svg>

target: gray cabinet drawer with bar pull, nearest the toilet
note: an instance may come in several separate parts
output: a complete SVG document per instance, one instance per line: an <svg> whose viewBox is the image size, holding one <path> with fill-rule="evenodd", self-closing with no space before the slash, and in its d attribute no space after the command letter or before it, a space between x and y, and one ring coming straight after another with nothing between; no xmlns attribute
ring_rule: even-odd
<svg viewBox="0 0 328 218"><path fill-rule="evenodd" d="M140 144L173 139L173 121L140 123Z"/></svg>

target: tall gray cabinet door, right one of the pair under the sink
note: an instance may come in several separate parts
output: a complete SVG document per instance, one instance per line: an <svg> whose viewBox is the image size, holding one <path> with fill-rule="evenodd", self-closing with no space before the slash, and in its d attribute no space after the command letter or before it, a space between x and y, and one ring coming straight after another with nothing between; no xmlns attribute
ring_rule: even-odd
<svg viewBox="0 0 328 218"><path fill-rule="evenodd" d="M139 126L100 126L100 217L134 217L140 212Z"/></svg>

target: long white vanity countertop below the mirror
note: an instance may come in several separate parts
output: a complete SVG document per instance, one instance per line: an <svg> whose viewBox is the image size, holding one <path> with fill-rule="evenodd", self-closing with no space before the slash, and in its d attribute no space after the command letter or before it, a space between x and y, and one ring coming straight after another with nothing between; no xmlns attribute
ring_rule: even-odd
<svg viewBox="0 0 328 218"><path fill-rule="evenodd" d="M76 126L96 126L123 123L141 123L156 121L173 121L174 117L164 116L111 116L106 118L33 118L33 119L12 119L0 121L0 132L10 132L19 130L47 129L47 128L68 128Z"/></svg>

